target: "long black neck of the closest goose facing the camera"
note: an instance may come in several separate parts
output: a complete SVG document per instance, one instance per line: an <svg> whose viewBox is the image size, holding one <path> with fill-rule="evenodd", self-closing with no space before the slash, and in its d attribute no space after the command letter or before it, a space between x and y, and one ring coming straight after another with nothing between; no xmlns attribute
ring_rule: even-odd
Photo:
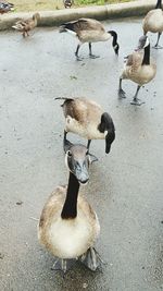
<svg viewBox="0 0 163 291"><path fill-rule="evenodd" d="M61 213L62 219L75 218L77 216L77 196L79 183L76 177L70 172L66 198Z"/></svg>

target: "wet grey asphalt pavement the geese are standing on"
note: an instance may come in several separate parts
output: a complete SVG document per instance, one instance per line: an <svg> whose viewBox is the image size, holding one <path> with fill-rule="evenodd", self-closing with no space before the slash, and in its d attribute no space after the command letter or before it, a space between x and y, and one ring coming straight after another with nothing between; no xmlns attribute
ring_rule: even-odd
<svg viewBox="0 0 163 291"><path fill-rule="evenodd" d="M137 45L141 20L104 22L121 46L84 45L54 28L37 28L27 39L0 34L0 290L1 291L156 291L163 289L163 50L151 50L155 80L140 89L146 104L129 104L136 84L124 81L123 58ZM150 35L154 45L156 35ZM163 45L163 38L160 44ZM37 221L49 194L67 182L62 148L63 114L54 97L85 96L110 112L116 128L111 154L93 141L99 157L82 189L97 210L101 233L97 250L105 260L91 272L77 264L65 278L52 271L53 257L37 240ZM71 141L84 142L75 135Z"/></svg>

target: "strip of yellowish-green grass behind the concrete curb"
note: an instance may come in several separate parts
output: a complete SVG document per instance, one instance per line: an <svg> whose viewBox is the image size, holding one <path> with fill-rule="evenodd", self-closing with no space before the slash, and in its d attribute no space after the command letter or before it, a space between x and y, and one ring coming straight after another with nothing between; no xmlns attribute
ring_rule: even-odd
<svg viewBox="0 0 163 291"><path fill-rule="evenodd" d="M102 5L105 3L128 2L129 0L75 0L73 7ZM64 9L62 0L12 0L15 5L15 12L21 11L41 11Z"/></svg>

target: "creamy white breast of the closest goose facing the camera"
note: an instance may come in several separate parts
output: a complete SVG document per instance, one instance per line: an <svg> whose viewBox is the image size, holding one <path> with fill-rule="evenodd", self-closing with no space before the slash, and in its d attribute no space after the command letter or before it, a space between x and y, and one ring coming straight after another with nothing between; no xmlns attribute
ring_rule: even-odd
<svg viewBox="0 0 163 291"><path fill-rule="evenodd" d="M95 242L92 227L85 217L61 219L49 229L49 243L53 255L61 258L75 258L84 254Z"/></svg>

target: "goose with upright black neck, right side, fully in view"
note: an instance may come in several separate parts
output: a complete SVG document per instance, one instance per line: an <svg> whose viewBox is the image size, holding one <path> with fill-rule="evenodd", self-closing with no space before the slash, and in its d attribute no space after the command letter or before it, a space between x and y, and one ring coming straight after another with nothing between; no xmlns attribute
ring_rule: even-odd
<svg viewBox="0 0 163 291"><path fill-rule="evenodd" d="M141 51L143 49L143 51ZM126 98L125 92L122 89L122 80L128 78L138 84L136 94L131 105L141 105L137 98L138 92L143 84L149 83L156 73L156 65L150 59L150 41L147 36L139 38L139 45L135 52L127 57L127 62L120 77L118 96Z"/></svg>

